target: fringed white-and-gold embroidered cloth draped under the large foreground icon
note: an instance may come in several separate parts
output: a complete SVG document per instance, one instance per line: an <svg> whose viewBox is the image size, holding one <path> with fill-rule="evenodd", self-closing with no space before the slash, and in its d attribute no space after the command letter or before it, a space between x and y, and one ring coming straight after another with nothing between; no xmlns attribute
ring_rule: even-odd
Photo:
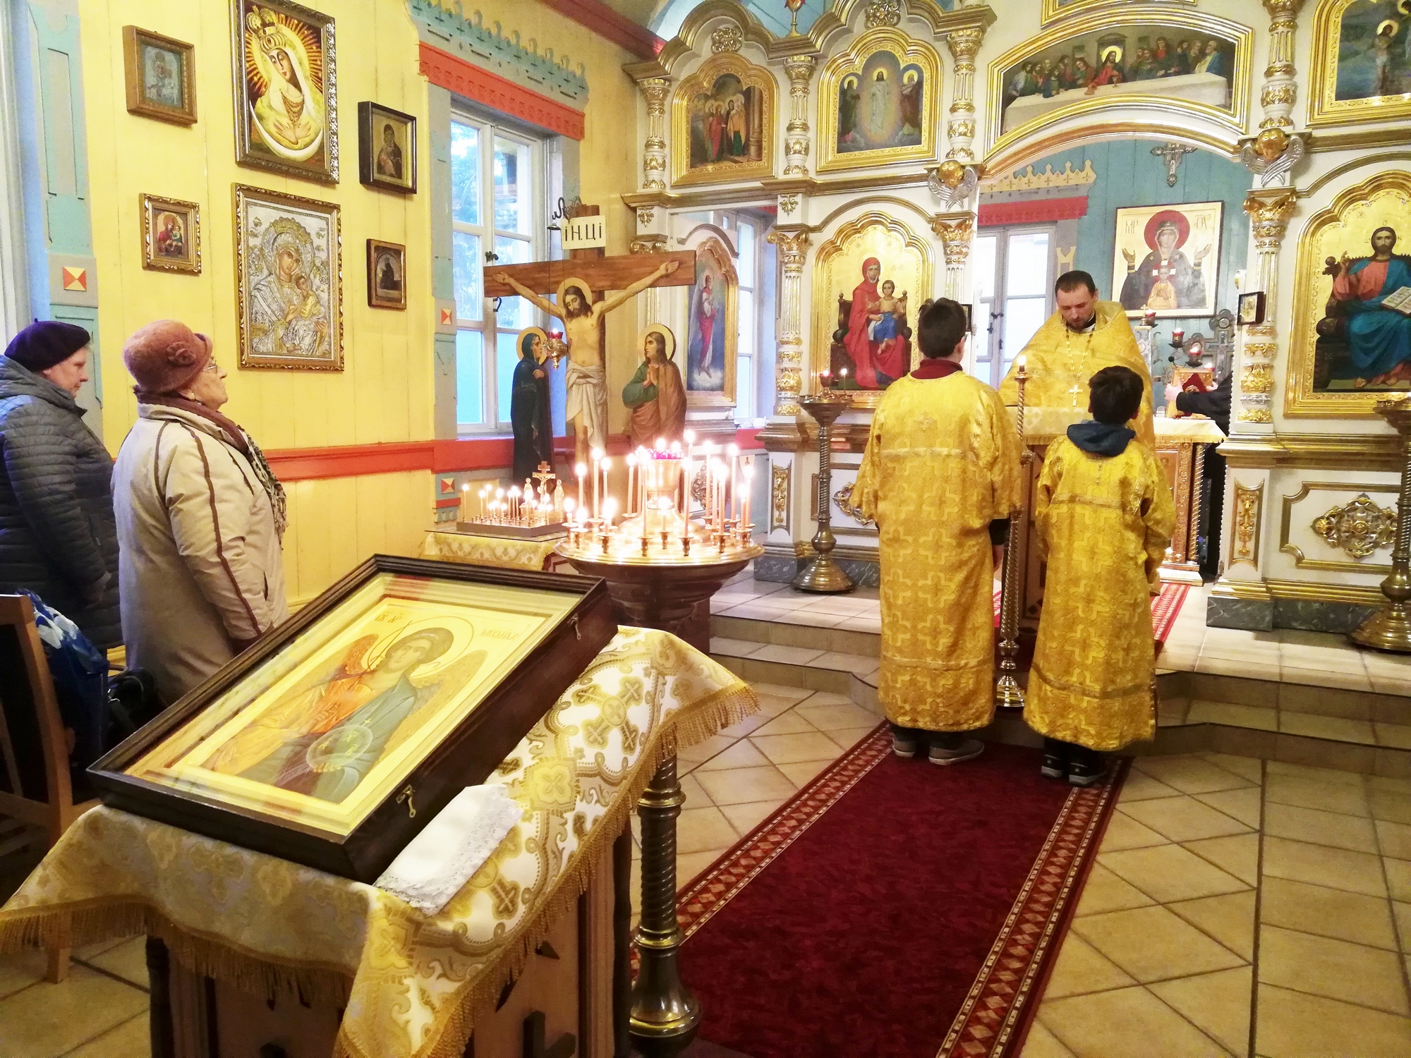
<svg viewBox="0 0 1411 1058"><path fill-rule="evenodd" d="M676 636L624 628L488 780L523 820L440 914L100 807L0 910L0 952L150 932L196 973L346 1004L334 1058L460 1058L660 760L756 708Z"/></svg>

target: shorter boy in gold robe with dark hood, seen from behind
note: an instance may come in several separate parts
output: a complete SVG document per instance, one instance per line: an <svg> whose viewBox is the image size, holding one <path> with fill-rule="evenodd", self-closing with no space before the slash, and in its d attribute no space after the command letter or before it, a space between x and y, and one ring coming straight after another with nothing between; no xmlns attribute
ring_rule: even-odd
<svg viewBox="0 0 1411 1058"><path fill-rule="evenodd" d="M1043 773L1102 779L1095 750L1156 734L1151 595L1175 512L1165 471L1129 429L1147 382L1125 367L1089 381L1092 419L1048 446L1034 499L1048 560L1024 719L1044 736Z"/></svg>

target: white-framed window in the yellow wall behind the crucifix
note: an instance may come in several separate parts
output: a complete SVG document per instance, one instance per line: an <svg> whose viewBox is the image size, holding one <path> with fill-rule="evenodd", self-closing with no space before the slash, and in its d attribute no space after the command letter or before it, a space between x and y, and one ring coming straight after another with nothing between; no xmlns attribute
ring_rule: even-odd
<svg viewBox="0 0 1411 1058"><path fill-rule="evenodd" d="M515 336L539 323L523 298L497 310L485 269L542 260L545 145L457 111L450 123L452 243L456 284L456 425L461 433L509 429Z"/></svg>

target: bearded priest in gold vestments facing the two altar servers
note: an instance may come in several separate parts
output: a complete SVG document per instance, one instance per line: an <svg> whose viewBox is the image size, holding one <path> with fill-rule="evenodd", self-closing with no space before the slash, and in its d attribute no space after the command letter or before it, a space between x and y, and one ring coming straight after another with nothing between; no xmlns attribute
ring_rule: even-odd
<svg viewBox="0 0 1411 1058"><path fill-rule="evenodd" d="M1156 451L1151 372L1127 323L1126 309L1118 302L1098 300L1098 286L1088 272L1060 275L1054 284L1054 299L1058 309L1023 348L1029 372L1024 405L1030 409L1068 411L1072 413L1068 422L1077 422L1088 408L1088 379L1096 371L1113 364L1132 368L1144 384L1141 408L1132 426L1137 440ZM1010 406L1019 402L1015 371L1012 367L999 387L1000 396Z"/></svg>

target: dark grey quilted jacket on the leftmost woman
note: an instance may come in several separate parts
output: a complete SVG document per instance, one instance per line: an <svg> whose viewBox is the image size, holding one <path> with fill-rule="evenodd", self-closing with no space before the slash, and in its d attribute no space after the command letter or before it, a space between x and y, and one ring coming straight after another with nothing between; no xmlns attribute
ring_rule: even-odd
<svg viewBox="0 0 1411 1058"><path fill-rule="evenodd" d="M78 402L0 355L0 591L28 588L99 649L123 642L111 485L113 460Z"/></svg>

